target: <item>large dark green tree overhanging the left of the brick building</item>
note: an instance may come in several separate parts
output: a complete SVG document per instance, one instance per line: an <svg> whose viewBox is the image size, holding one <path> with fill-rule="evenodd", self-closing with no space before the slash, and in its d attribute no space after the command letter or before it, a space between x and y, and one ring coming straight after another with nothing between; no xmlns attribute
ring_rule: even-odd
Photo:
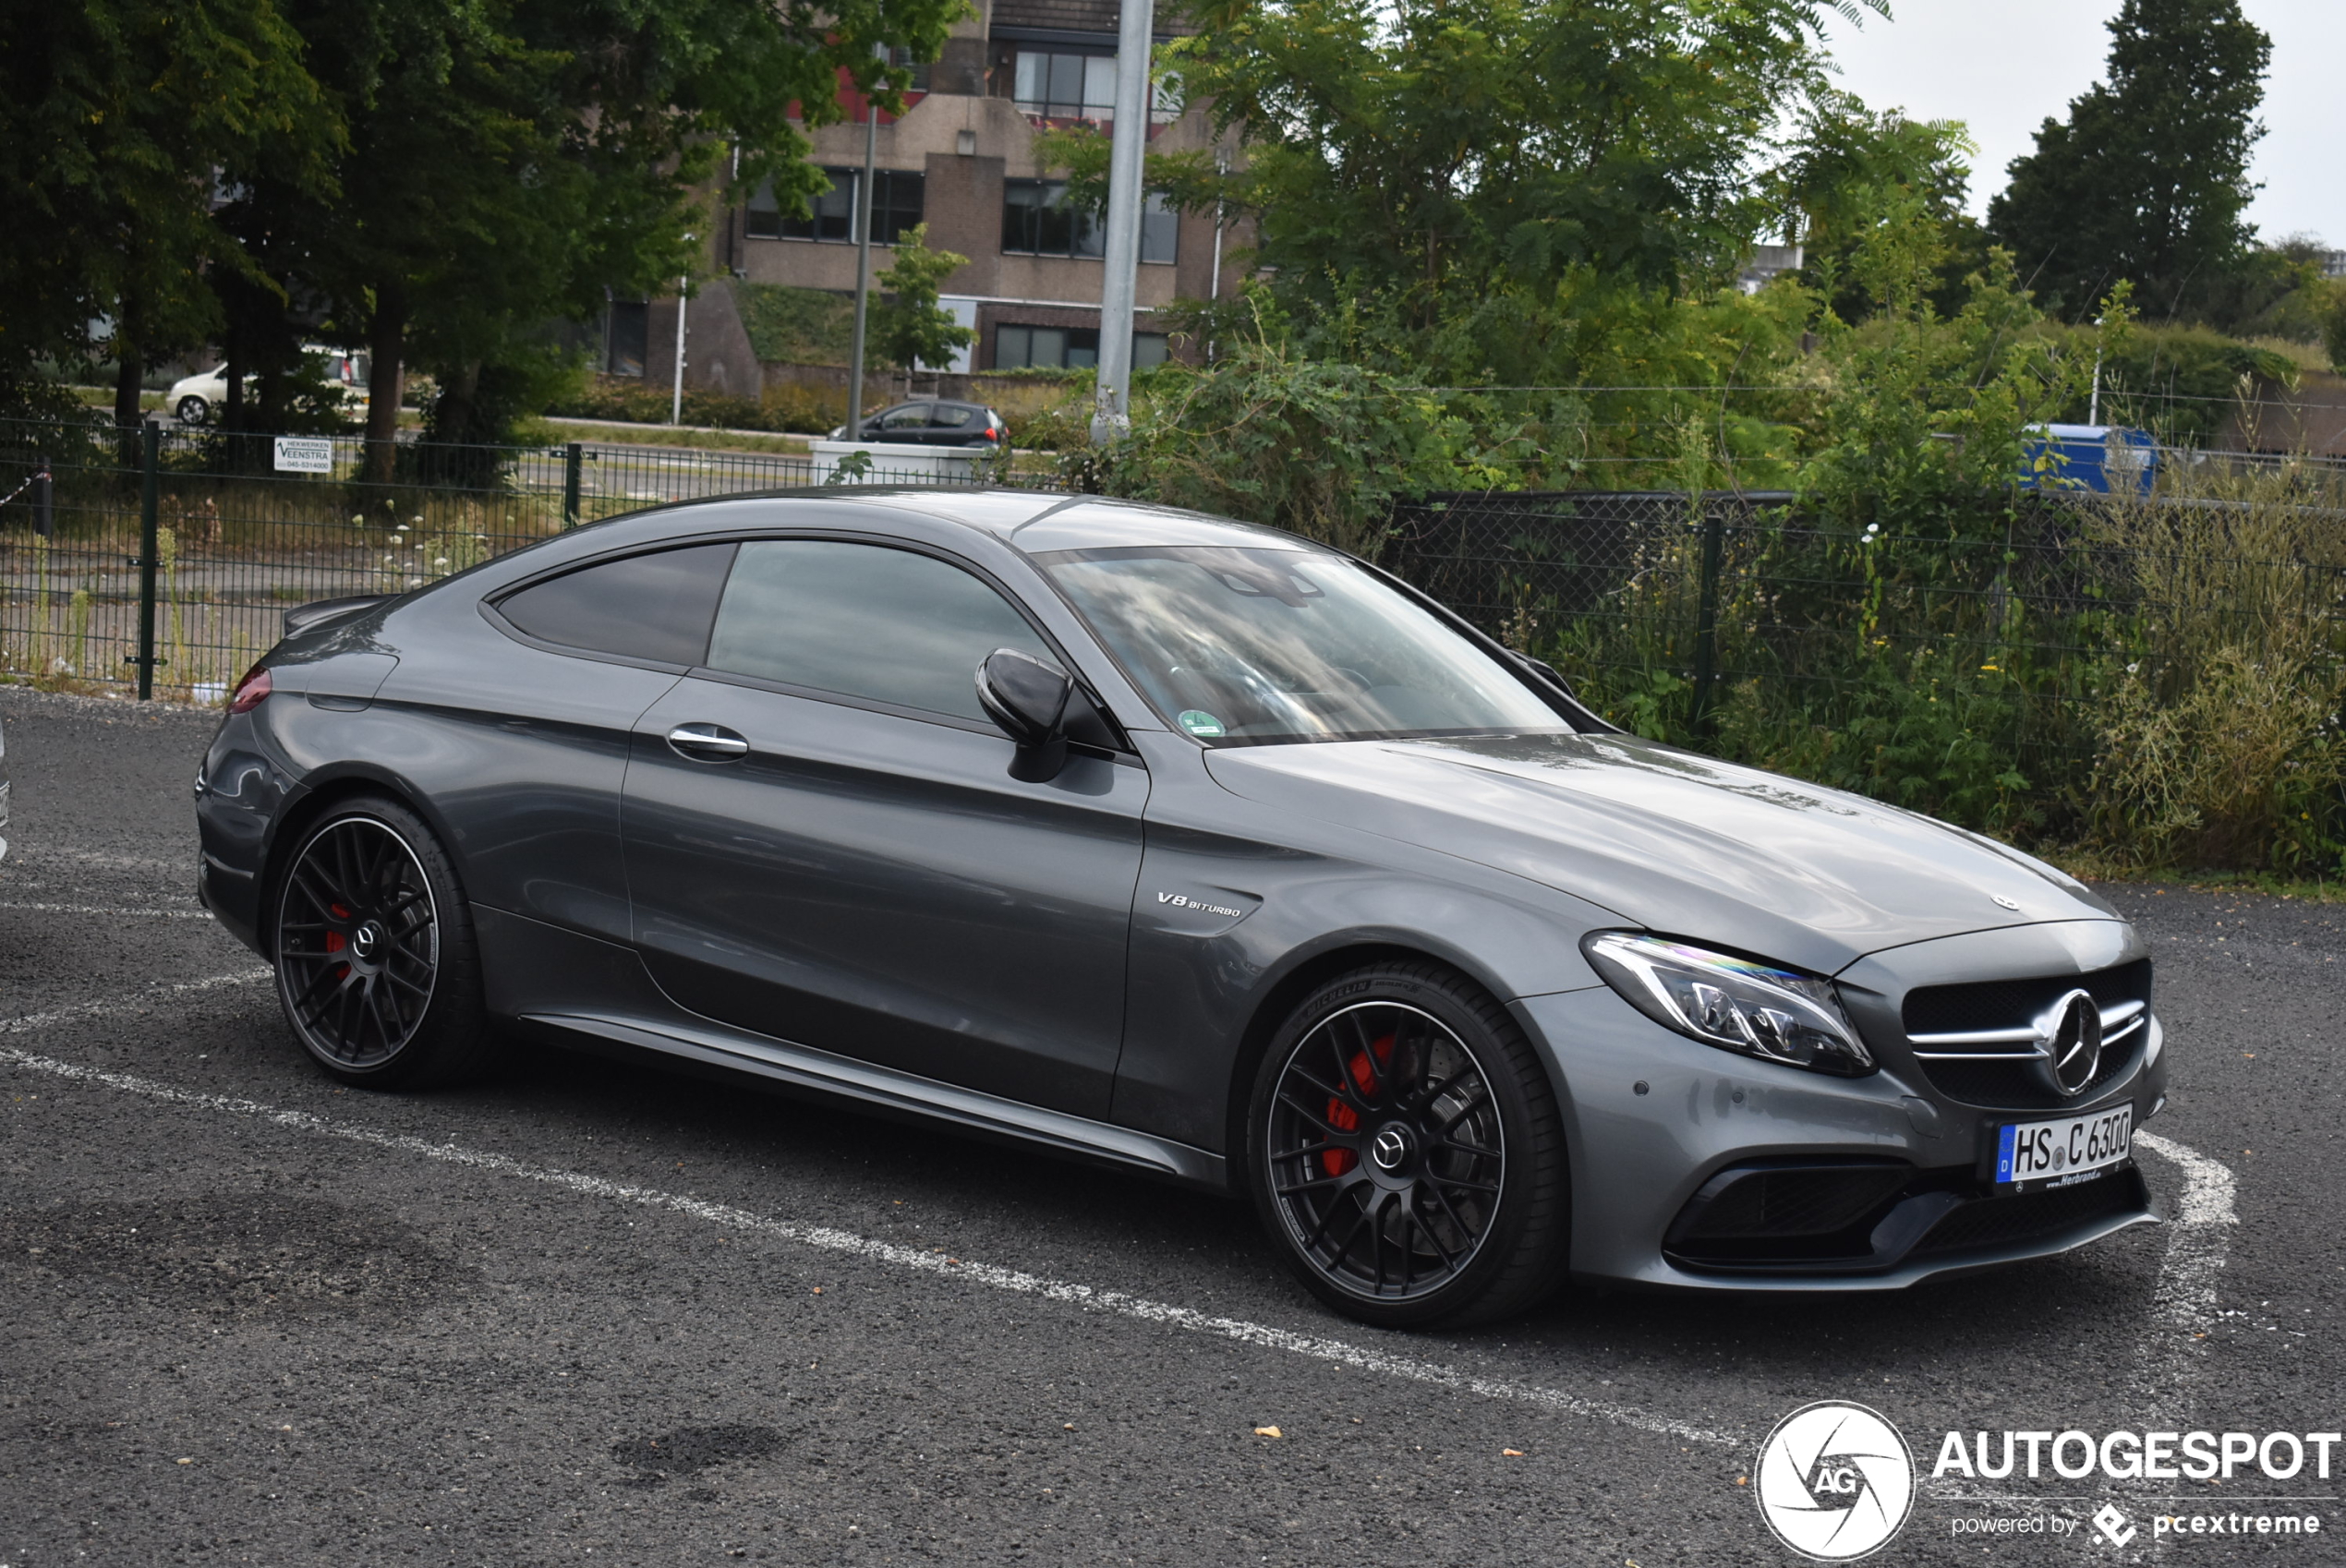
<svg viewBox="0 0 2346 1568"><path fill-rule="evenodd" d="M411 363L439 387L432 434L502 438L547 380L549 326L699 267L711 199L821 188L807 124L842 75L901 108L962 0L289 0L350 127L343 197L256 183L230 216L270 239L291 298L373 349L368 476L389 478ZM235 356L267 375L284 312L239 314ZM263 401L267 384L263 380Z"/></svg>

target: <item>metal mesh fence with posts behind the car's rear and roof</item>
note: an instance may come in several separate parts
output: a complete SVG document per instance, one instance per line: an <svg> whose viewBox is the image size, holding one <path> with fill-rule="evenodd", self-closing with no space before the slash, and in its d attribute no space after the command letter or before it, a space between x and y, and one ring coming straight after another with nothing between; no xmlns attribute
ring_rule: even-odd
<svg viewBox="0 0 2346 1568"><path fill-rule="evenodd" d="M289 605L399 593L579 523L821 483L1049 483L964 452L913 471L706 448L303 441L0 422L0 677L221 701ZM284 459L312 471L289 471Z"/></svg>

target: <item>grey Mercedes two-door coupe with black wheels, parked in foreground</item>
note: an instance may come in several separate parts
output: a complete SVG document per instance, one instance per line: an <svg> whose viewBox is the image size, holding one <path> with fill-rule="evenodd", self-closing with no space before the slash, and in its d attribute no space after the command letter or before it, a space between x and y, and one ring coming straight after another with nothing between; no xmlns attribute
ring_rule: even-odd
<svg viewBox="0 0 2346 1568"><path fill-rule="evenodd" d="M516 1031L1248 1198L1377 1324L1893 1289L2151 1219L2151 963L2060 872L1621 734L1159 506L645 511L286 614L202 893L354 1085Z"/></svg>

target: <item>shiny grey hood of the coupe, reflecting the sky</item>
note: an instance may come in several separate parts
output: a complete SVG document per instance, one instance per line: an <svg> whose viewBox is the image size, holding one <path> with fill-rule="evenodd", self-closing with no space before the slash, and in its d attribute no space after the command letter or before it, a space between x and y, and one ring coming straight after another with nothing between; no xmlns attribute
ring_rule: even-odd
<svg viewBox="0 0 2346 1568"><path fill-rule="evenodd" d="M1635 736L1246 745L1206 766L1234 795L1820 975L1966 930L2118 919L1992 839Z"/></svg>

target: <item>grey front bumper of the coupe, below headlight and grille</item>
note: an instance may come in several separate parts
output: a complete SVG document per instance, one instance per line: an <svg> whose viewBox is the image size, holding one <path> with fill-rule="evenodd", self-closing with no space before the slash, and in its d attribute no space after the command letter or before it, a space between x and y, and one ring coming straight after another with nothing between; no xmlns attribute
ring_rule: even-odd
<svg viewBox="0 0 2346 1568"><path fill-rule="evenodd" d="M2053 1202L1992 1198L1982 1139L2006 1120L2041 1120L2046 1111L1964 1106L1912 1069L1832 1078L1738 1057L1663 1029L1605 987L1525 996L1513 1013L1548 1055L1562 1097L1572 1273L1586 1280L1881 1291L2069 1252L2156 1221L2128 1167L2060 1188L2069 1198ZM2135 1125L2149 1120L2165 1104L2156 1029L2130 1071L2060 1113L2130 1102ZM1881 1172L1865 1177L1879 1181L1879 1202L1853 1216L1858 1240L1839 1256L1701 1256L1706 1249L1689 1247L1682 1223L1689 1205L1706 1184L1752 1165Z"/></svg>

